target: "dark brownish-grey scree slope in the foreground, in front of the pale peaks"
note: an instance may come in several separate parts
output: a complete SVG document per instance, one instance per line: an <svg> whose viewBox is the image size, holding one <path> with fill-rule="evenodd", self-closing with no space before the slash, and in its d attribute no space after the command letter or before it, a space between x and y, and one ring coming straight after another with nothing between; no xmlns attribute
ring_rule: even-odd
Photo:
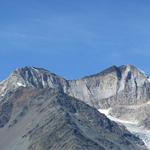
<svg viewBox="0 0 150 150"><path fill-rule="evenodd" d="M1 150L146 150L123 126L58 90L19 87L0 110L0 118L9 116L1 121Z"/></svg>

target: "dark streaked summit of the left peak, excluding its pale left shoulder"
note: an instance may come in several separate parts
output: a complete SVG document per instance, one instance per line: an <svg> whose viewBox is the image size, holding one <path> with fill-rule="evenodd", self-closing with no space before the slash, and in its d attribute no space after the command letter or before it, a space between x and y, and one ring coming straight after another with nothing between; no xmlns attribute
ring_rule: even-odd
<svg viewBox="0 0 150 150"><path fill-rule="evenodd" d="M62 77L51 73L46 69L30 66L18 68L13 74L18 78L21 78L26 86L35 88L58 86L60 80L64 80Z"/></svg>

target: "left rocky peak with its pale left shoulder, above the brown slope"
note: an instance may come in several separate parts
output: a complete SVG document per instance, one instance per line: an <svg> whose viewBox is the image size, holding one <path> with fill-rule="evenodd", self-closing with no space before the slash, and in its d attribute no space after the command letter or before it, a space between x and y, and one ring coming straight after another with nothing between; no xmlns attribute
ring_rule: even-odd
<svg viewBox="0 0 150 150"><path fill-rule="evenodd" d="M19 87L61 89L65 79L43 68L26 66L17 68L0 83L0 99Z"/></svg>

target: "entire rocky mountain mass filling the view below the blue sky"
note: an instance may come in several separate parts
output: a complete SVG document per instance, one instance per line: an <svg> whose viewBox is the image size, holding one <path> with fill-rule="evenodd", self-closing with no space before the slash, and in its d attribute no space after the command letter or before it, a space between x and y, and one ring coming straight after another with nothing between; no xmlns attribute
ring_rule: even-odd
<svg viewBox="0 0 150 150"><path fill-rule="evenodd" d="M57 91L57 94L54 91ZM69 99L69 104L61 105L60 101L57 101L61 98ZM80 110L80 106L74 108L75 103L72 101L78 101L77 99L83 101L80 101L80 103L85 105L84 110L82 110L85 114ZM28 105L31 105L31 107ZM40 109L39 113L37 110ZM77 109L76 111L80 111L80 113L76 115L75 112L72 112L74 109ZM0 135L6 134L0 145L4 146L4 150L9 150L5 143L9 139L10 143L14 145L24 145L20 148L23 150L28 148L29 150L59 150L63 149L62 146L65 143L70 143L70 145L65 145L64 149L69 149L71 145L70 149L85 150L92 149L93 146L94 149L107 150L145 149L138 138L131 133L128 133L127 137L124 136L124 133L127 132L126 129L113 124L109 119L111 124L109 124L109 129L111 126L117 129L107 130L107 123L106 126L102 126L102 123L100 127L97 127L99 119L104 123L108 120L105 118L106 121L101 114L96 115L98 113L96 109L100 112L107 111L105 115L119 124L121 122L121 126L122 124L125 125L131 132L135 128L140 132L142 131L142 136L136 131L133 133L142 138L145 144L149 143L148 148L150 148L150 81L148 76L132 65L112 66L98 74L79 80L66 80L42 68L24 67L16 69L6 80L0 82ZM87 115L87 113L91 113L92 116ZM85 117L86 115L87 117ZM49 118L47 118L48 116ZM120 120L118 121L118 119ZM90 124L91 120L94 121L94 126ZM27 122L30 122L29 126ZM45 122L46 124L44 124ZM52 129L50 130L49 127L52 127ZM58 133L56 132L57 129L60 129ZM146 132L143 132L145 129ZM8 130L10 134L7 134ZM52 134L53 131L56 132L56 135L55 132ZM46 134L46 132L49 132L49 134ZM148 138L145 138L147 132ZM65 134L67 136L64 136ZM17 137L15 141L11 141L13 136ZM22 136L26 138L22 139ZM66 137L69 138L66 139ZM112 139L112 137L116 137L116 139ZM129 137L132 138L129 139ZM3 139L3 137L0 138ZM97 139L100 139L100 141L97 141ZM130 142L128 143L126 140ZM44 147L44 145L47 146ZM14 148L14 150L17 149L19 147Z"/></svg>

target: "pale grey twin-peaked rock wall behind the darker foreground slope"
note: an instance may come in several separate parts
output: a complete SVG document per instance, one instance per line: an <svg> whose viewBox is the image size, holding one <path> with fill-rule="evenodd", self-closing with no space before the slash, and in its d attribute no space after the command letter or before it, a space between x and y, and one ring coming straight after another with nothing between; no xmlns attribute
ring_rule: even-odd
<svg viewBox="0 0 150 150"><path fill-rule="evenodd" d="M112 66L101 73L72 81L45 69L20 68L0 84L1 96L19 86L60 89L98 109L116 104L142 104L150 99L149 78L132 65Z"/></svg>

